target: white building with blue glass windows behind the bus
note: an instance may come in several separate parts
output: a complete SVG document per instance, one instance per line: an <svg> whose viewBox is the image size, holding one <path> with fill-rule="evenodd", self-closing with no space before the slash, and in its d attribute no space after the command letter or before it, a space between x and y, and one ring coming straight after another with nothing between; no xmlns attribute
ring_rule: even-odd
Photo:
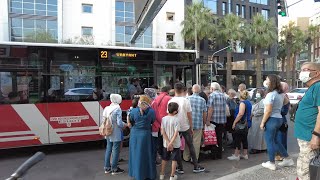
<svg viewBox="0 0 320 180"><path fill-rule="evenodd" d="M136 41L133 0L0 0L0 41L32 41L47 33L58 43L184 49L184 0L168 0Z"/></svg>

